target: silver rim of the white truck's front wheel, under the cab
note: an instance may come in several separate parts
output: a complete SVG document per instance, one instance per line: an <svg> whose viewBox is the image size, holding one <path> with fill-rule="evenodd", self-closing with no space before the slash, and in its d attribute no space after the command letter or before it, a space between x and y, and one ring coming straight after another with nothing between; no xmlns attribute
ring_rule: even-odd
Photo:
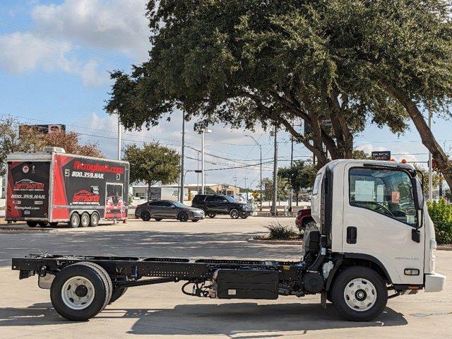
<svg viewBox="0 0 452 339"><path fill-rule="evenodd" d="M350 309L367 311L376 303L376 288L367 279L353 279L345 286L344 299Z"/></svg>

